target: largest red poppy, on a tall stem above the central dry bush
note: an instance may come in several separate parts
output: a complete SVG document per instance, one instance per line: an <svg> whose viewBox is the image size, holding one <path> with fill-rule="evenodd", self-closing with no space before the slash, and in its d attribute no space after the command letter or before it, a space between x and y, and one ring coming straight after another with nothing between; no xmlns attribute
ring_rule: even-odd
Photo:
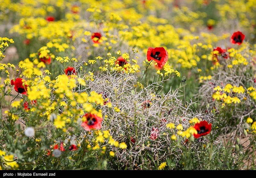
<svg viewBox="0 0 256 178"><path fill-rule="evenodd" d="M168 52L163 47L148 48L147 52L148 61L154 60L158 67L163 67L168 60Z"/></svg>

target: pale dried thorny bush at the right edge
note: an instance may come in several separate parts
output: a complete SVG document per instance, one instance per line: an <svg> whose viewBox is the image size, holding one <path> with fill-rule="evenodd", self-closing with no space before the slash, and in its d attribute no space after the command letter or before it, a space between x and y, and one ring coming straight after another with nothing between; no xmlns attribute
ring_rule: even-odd
<svg viewBox="0 0 256 178"><path fill-rule="evenodd" d="M233 65L232 68L228 68L228 64L230 64L235 58L220 58L220 64L222 66L214 72L211 80L203 81L198 90L198 94L196 95L202 112L206 110L207 105L209 104L210 108L214 107L218 113L220 108L223 107L221 104L224 102L216 102L216 100L212 99L212 94L216 92L214 88L216 86L220 86L223 89L228 83L236 87L243 86L245 92L240 94L236 93L237 97L241 100L241 103L237 103L232 112L228 111L228 113L231 114L230 118L237 120L238 124L244 123L244 120L247 117L252 116L256 111L256 101L247 91L248 87L256 88L256 55L250 50L249 45L244 47L244 49L240 51L240 54L246 58L248 65ZM233 94L230 93L230 95L232 96ZM227 125L227 129L228 127L232 126ZM243 131L243 129L244 128L242 128L241 131Z"/></svg>

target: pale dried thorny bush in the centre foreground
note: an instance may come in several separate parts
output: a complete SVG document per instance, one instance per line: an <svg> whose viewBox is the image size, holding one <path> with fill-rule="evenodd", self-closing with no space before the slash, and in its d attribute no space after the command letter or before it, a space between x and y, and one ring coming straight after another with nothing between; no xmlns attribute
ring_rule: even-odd
<svg viewBox="0 0 256 178"><path fill-rule="evenodd" d="M143 89L136 89L137 82L138 78L134 74L109 72L98 74L94 81L89 82L91 90L104 93L112 104L112 108L101 107L103 118L107 115L102 122L102 130L110 130L110 135L114 139L127 143L128 147L125 150L113 148L123 166L139 167L139 163L148 164L165 160L172 154L175 154L175 159L178 160L182 150L171 147L172 135L168 134L166 124L172 122L177 126L181 123L183 128L187 129L190 126L190 119L197 117L212 122L213 116L193 112L192 101L185 107L178 98L178 90L170 89L162 95L156 93L154 88L161 86L162 81L152 83ZM145 107L145 101L152 104ZM119 108L120 112L115 112L114 107ZM154 141L150 139L152 128L159 131L158 138ZM173 130L173 134L176 135L176 131ZM131 142L131 137L135 143ZM197 140L201 141L207 140ZM149 160L149 157L152 160Z"/></svg>

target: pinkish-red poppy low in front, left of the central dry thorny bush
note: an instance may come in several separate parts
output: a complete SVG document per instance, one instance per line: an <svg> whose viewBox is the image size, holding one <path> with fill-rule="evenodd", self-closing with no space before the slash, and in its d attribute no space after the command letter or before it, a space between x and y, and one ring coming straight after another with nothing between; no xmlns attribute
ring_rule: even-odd
<svg viewBox="0 0 256 178"><path fill-rule="evenodd" d="M86 118L86 121L84 121L81 124L81 126L85 130L90 131L91 129L100 129L101 128L102 118L100 118L96 114L86 113L83 117Z"/></svg>

